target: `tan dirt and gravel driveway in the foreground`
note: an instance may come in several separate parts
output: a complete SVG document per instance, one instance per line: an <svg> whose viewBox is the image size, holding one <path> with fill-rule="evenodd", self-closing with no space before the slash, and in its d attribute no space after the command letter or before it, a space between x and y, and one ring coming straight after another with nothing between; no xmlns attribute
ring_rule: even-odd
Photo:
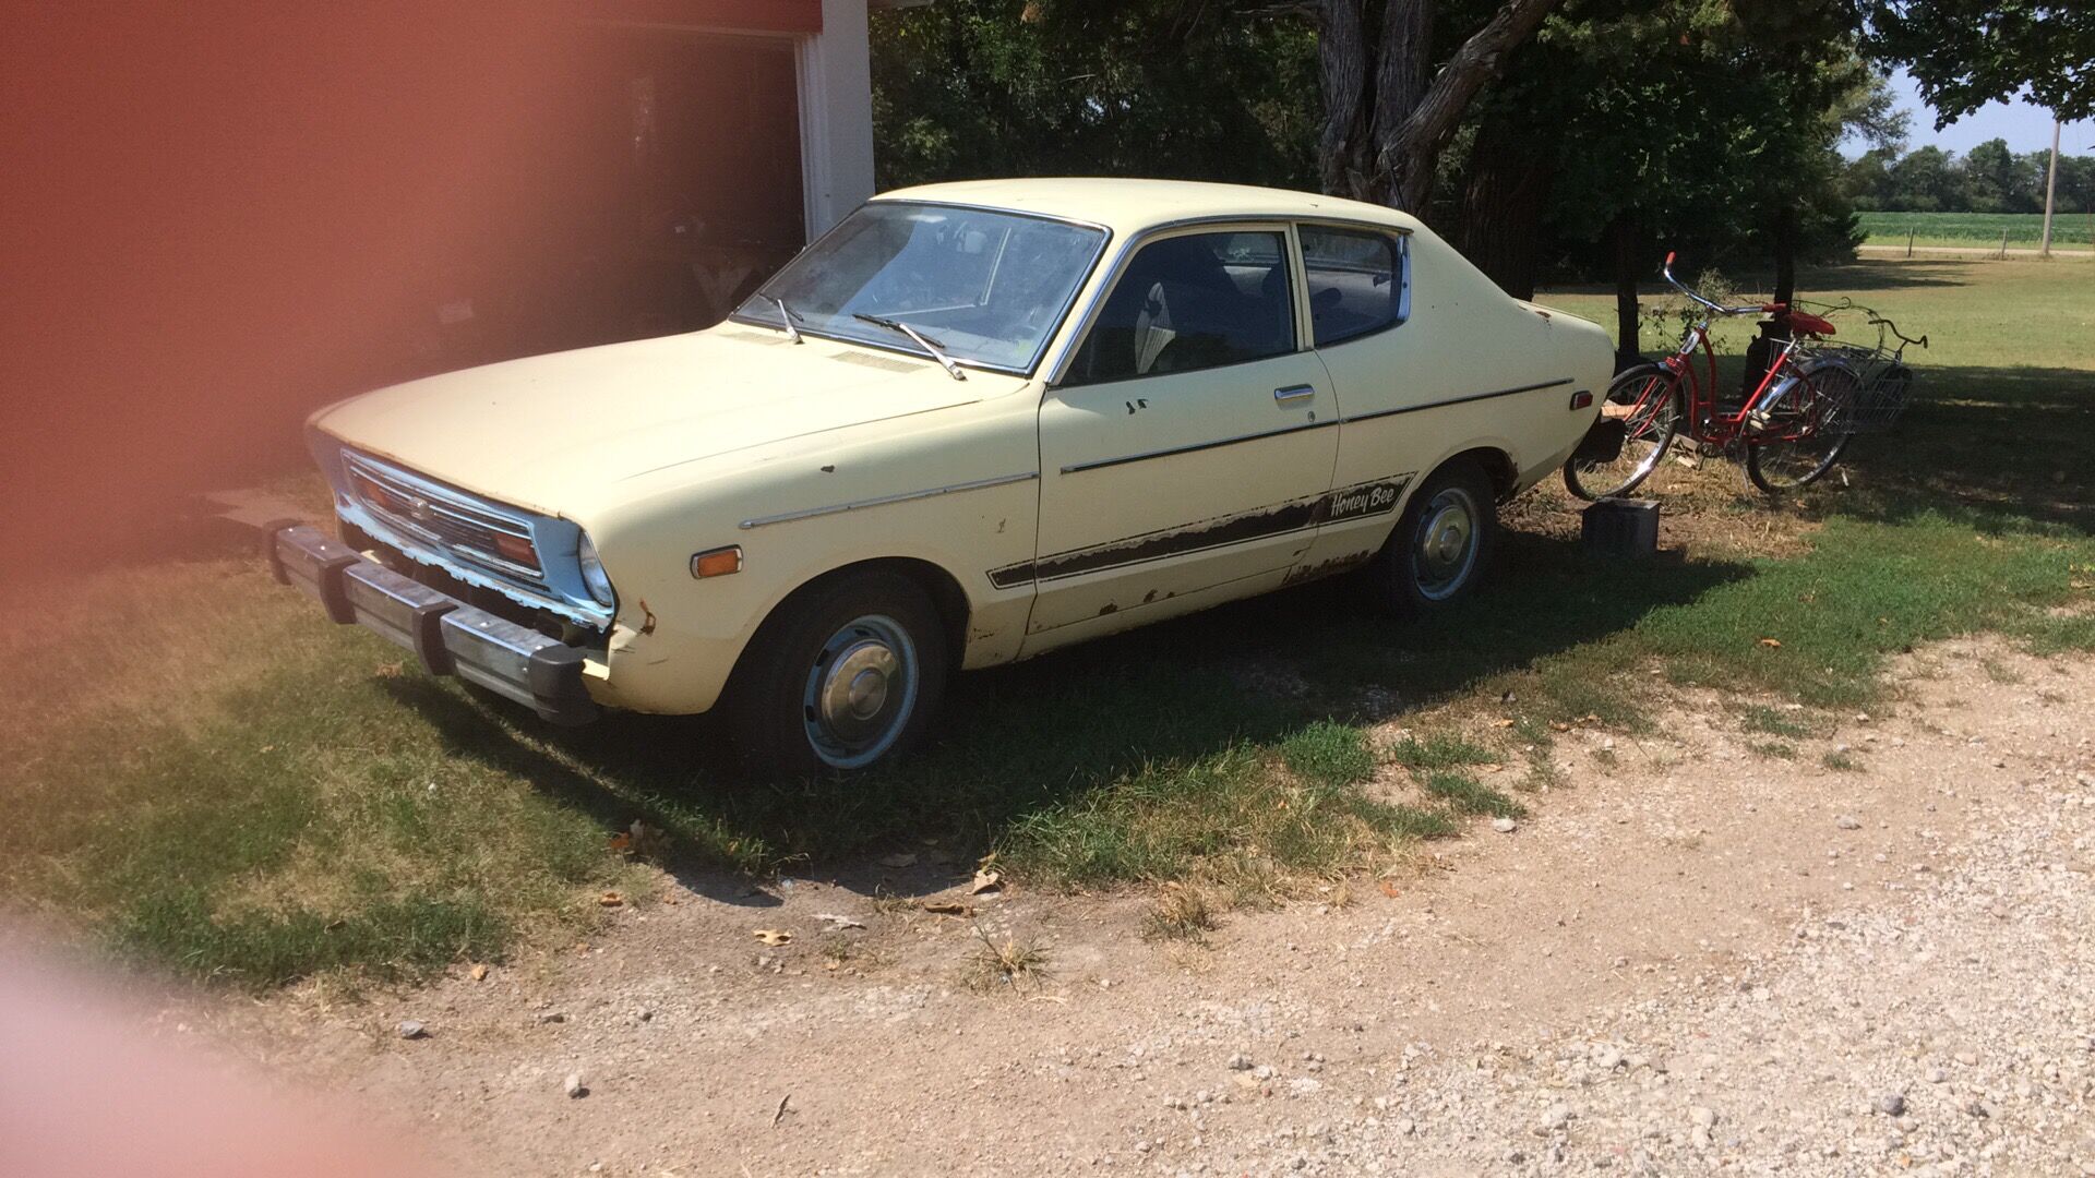
<svg viewBox="0 0 2095 1178"><path fill-rule="evenodd" d="M1892 683L1793 759L1712 700L1573 732L1517 830L1207 947L1140 897L943 895L1037 985L970 989L970 920L878 899L962 880L924 847L159 1025L471 1174L2095 1174L2095 662L1953 643Z"/></svg>

